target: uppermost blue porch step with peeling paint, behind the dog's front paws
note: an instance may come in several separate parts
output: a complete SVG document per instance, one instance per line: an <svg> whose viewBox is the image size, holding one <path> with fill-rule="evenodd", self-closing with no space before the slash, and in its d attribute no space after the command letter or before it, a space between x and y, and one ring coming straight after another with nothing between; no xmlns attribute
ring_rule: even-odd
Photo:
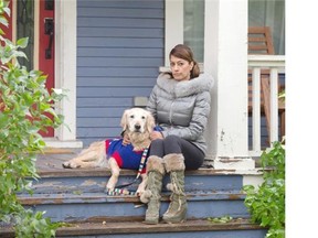
<svg viewBox="0 0 318 238"><path fill-rule="evenodd" d="M40 172L41 180L33 181L34 194L54 193L103 193L108 178L109 170L62 170L53 172ZM118 184L128 184L136 178L135 171L121 170ZM162 190L169 183L169 176L165 176ZM186 192L193 191L240 191L243 185L243 176L231 171L218 171L200 169L186 172ZM129 186L136 191L138 183Z"/></svg>

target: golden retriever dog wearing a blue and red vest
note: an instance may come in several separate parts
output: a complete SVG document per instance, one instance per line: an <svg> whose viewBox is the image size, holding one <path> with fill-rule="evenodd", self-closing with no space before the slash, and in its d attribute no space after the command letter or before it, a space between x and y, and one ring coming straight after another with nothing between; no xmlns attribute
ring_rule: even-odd
<svg viewBox="0 0 318 238"><path fill-rule="evenodd" d="M67 169L109 167L112 176L107 182L107 191L114 191L118 182L120 169L138 170L145 149L150 145L150 133L155 128L152 115L142 108L131 108L124 111L120 126L123 138L128 137L129 144L123 144L123 138L93 142L76 158L64 162ZM146 167L146 166L145 166ZM141 173L141 183L137 194L145 191L146 173Z"/></svg>

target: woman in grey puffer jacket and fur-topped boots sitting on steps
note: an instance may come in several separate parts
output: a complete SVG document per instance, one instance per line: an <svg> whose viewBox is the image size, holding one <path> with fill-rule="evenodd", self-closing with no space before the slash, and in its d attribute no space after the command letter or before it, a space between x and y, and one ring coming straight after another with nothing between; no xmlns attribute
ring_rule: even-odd
<svg viewBox="0 0 318 238"><path fill-rule="evenodd" d="M172 192L166 223L187 218L184 170L198 170L204 160L206 144L203 132L210 113L212 76L200 74L193 53L187 45L174 46L170 54L171 73L157 78L147 109L162 131L153 131L147 162L148 181L140 201L148 204L146 224L159 223L162 178L170 174Z"/></svg>

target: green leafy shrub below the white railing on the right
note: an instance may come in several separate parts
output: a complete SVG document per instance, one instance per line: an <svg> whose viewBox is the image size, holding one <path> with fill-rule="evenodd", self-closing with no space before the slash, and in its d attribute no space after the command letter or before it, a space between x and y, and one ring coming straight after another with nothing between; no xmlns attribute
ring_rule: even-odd
<svg viewBox="0 0 318 238"><path fill-rule="evenodd" d="M268 228L266 237L285 237L285 148L274 142L261 155L264 182L258 188L244 186L245 205L252 220Z"/></svg>

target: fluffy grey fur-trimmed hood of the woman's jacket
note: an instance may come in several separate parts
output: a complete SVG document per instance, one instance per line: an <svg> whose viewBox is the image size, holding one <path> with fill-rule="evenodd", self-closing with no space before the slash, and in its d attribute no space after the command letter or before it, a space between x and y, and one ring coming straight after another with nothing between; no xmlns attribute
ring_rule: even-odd
<svg viewBox="0 0 318 238"><path fill-rule="evenodd" d="M157 78L157 85L162 90L176 97L187 97L193 94L210 91L214 85L214 78L210 74L200 74L190 80L178 82L169 73L161 73Z"/></svg>

